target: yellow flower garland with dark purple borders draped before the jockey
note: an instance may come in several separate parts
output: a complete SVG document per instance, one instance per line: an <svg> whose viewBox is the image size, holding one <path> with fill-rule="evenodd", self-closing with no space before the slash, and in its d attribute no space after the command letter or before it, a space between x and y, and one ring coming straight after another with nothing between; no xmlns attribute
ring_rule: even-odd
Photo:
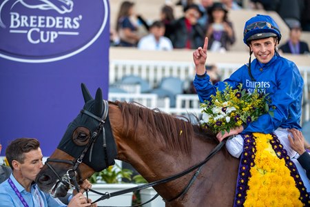
<svg viewBox="0 0 310 207"><path fill-rule="evenodd" d="M276 135L244 135L234 206L304 206L309 195Z"/></svg>

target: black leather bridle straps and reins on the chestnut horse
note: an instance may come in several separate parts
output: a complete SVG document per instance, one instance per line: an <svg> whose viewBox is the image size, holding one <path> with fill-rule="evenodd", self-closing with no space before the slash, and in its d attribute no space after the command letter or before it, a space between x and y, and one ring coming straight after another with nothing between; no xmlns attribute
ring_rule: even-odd
<svg viewBox="0 0 310 207"><path fill-rule="evenodd" d="M45 164L52 170L52 172L54 172L54 174L56 175L56 177L59 179L59 181L61 181L61 183L65 186L72 186L74 188L76 188L76 190L79 192L79 184L76 181L76 175L79 175L79 164L81 164L81 162L83 161L83 158L87 152L87 150L91 150L92 153L92 146L94 144L94 141L96 141L96 138L99 136L101 130L103 131L103 150L105 152L105 162L107 164L107 145L106 145L106 137L105 137L105 128L103 126L103 124L105 123L105 119L107 118L107 114L108 114L108 110L109 110L109 106L108 106L108 102L103 100L103 105L104 105L104 110L103 110L103 116L102 117L97 117L96 115L92 114L92 112L89 112L87 110L81 110L81 112L85 115L88 115L94 119L96 119L97 121L99 121L99 126L96 128L96 130L92 133L92 137L90 138L90 141L88 142L88 144L85 146L83 152L81 153L81 155L75 159L74 161L71 160L63 160L63 159L50 159L48 158L47 161L45 162ZM101 193L99 191L96 190L92 190L89 189L89 191L96 193L98 195L101 195L101 197L99 199L96 199L96 201L93 201L92 204L104 200L104 199L109 199L110 197L115 197L117 195L123 195L125 193L132 193L134 191L137 190L142 190L145 188L149 188L149 187L153 187L153 186L157 186L159 184L164 184L167 183L169 181L173 181L174 179L178 179L180 177L183 177L185 175L187 175L189 172L192 172L194 170L196 170L196 172L194 173L194 175L192 176L192 179L189 180L187 186L185 186L185 188L175 197L173 197L172 199L167 199L164 200L165 202L171 202L174 201L175 199L178 199L178 197L184 196L187 191L189 190L189 188L192 186L192 184L194 184L194 181L196 180L196 178L198 177L200 171L202 170L204 164L207 163L207 161L209 161L209 159L211 159L211 157L213 157L214 155L216 155L216 153L223 148L223 146L225 145L227 139L223 139L223 141L220 142L220 144L218 144L218 146L216 146L213 150L211 150L211 152L209 153L209 155L207 155L207 157L203 160L200 161L198 164L196 164L195 166L192 166L191 168L188 168L187 170L184 170L183 172L179 172L176 175L172 175L170 177L166 177L164 179L160 179L158 181L154 181L152 183L149 184L144 184L141 186L136 186L134 188L127 188L124 190L118 190L115 191L113 193ZM90 156L91 157L91 156ZM70 164L73 166L73 168L69 169L65 175L63 175L63 177L61 177L56 170L54 170L54 168L48 163L48 162L56 162L56 163L65 163L65 164ZM107 165L108 166L108 165ZM73 172L73 173L72 173ZM73 182L73 185L71 184L71 181ZM67 187L68 188L68 187ZM87 191L86 191L87 193ZM144 204L149 203L150 201L152 201L153 199L155 199L156 197L158 197L158 194L156 194L152 199L150 199L149 201L145 202ZM136 206L141 206L143 204L138 204Z"/></svg>

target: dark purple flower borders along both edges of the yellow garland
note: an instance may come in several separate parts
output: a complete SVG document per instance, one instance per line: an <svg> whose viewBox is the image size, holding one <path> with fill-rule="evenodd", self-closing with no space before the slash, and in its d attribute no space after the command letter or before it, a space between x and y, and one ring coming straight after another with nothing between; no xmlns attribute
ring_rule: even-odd
<svg viewBox="0 0 310 207"><path fill-rule="evenodd" d="M287 155L287 150L285 150L280 144L280 141L276 135L271 134L273 139L270 141L273 150L279 159L285 159L285 166L291 171L291 177L295 180L296 187L300 191L300 201L304 206L310 206L309 194L307 189L304 187L304 183L298 173L298 170ZM244 140L243 152L240 159L238 179L236 184L236 195L234 200L234 207L243 206L245 203L245 197L247 196L247 190L249 186L247 185L249 177L251 177L250 169L254 166L255 152L256 152L256 141L252 134L242 135Z"/></svg>

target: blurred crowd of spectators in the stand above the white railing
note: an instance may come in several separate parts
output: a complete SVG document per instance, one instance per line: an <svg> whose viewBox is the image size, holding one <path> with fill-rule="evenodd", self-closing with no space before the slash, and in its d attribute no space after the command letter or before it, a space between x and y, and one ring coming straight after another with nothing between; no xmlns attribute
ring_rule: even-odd
<svg viewBox="0 0 310 207"><path fill-rule="evenodd" d="M110 30L111 46L136 47L141 50L196 49L209 38L208 50L225 52L235 43L234 23L229 10L263 9L276 11L290 28L289 39L280 46L282 52L307 54L309 47L300 40L302 31L310 31L310 0L251 0L247 7L237 0L180 0L161 7L160 16L152 22L136 14L132 1L123 1L116 17L116 28ZM183 8L176 19L175 6ZM289 9L288 9L289 8ZM147 34L138 32L143 27Z"/></svg>

